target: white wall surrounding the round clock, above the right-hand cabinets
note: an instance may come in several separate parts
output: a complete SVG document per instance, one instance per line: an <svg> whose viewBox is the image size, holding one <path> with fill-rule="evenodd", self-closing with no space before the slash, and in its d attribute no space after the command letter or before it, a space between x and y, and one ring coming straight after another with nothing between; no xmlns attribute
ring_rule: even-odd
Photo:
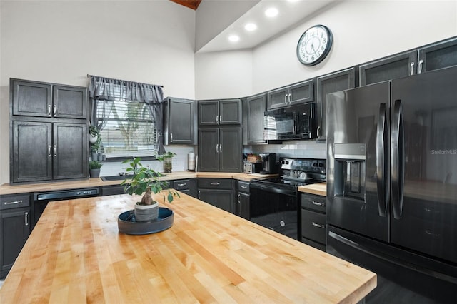
<svg viewBox="0 0 457 304"><path fill-rule="evenodd" d="M328 26L334 41L327 58L317 66L308 67L296 58L296 45L301 34L314 24ZM229 51L198 54L196 96L224 98L226 88L219 86L222 78L231 78L235 90L231 91L232 95L253 95L456 35L455 0L339 1L250 50L251 65L243 61L236 74L219 72L219 65L207 64L207 60L223 63ZM245 79L249 77L252 87L246 94ZM237 88L241 91L237 92Z"/></svg>

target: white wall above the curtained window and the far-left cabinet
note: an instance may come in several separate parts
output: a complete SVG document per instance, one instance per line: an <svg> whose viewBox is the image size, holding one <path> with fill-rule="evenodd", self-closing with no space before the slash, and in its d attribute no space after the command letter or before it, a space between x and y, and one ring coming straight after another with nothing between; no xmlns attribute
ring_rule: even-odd
<svg viewBox="0 0 457 304"><path fill-rule="evenodd" d="M10 77L86 86L93 74L195 96L194 10L168 0L1 0L0 11L0 184L9 182Z"/></svg>

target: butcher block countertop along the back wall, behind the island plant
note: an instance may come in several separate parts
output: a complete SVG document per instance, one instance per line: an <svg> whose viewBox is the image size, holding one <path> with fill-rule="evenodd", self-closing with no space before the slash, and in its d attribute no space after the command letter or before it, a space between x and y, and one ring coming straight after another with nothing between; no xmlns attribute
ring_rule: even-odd
<svg viewBox="0 0 457 304"><path fill-rule="evenodd" d="M164 181L186 178L235 178L241 181L251 181L253 178L268 178L277 176L277 174L246 174L246 173L226 173L226 172L191 172L179 171L164 173L166 176L161 177ZM22 185L10 185L5 183L0 186L0 194L14 194L41 191L56 191L74 188L90 188L119 185L122 180L102 181L101 178L90 178L82 181L59 181L53 183L29 183Z"/></svg>

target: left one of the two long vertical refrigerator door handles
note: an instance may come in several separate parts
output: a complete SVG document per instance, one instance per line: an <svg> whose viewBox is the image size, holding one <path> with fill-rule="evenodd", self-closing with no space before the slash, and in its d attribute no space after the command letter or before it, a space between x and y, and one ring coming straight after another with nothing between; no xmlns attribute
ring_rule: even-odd
<svg viewBox="0 0 457 304"><path fill-rule="evenodd" d="M387 215L389 183L388 173L388 123L386 103L379 105L378 128L376 132L376 184L378 188L379 216Z"/></svg>

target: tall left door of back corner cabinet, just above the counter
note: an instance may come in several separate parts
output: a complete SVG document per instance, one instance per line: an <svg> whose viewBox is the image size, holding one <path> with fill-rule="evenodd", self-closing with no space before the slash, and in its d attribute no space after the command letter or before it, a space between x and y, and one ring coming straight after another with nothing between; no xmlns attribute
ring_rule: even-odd
<svg viewBox="0 0 457 304"><path fill-rule="evenodd" d="M219 171L219 128L199 130L199 171Z"/></svg>

